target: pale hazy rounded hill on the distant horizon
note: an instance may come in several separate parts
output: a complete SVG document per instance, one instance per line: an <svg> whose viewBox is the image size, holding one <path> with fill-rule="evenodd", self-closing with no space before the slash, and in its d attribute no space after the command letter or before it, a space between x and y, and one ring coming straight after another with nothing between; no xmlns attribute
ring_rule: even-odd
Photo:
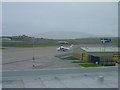
<svg viewBox="0 0 120 90"><path fill-rule="evenodd" d="M83 32L74 32L74 31L52 31L52 32L35 34L34 36L49 38L49 39L78 39L78 38L100 37L100 35L88 34Z"/></svg>

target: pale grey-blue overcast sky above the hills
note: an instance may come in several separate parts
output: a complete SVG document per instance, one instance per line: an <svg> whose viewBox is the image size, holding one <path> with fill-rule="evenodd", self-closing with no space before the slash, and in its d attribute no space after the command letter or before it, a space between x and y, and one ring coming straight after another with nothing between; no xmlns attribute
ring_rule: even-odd
<svg viewBox="0 0 120 90"><path fill-rule="evenodd" d="M76 31L117 36L117 9L115 2L3 3L3 35Z"/></svg>

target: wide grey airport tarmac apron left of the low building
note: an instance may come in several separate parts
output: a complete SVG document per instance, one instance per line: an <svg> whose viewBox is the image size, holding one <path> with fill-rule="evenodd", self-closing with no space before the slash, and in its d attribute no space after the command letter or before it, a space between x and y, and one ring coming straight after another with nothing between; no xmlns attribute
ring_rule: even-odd
<svg viewBox="0 0 120 90"><path fill-rule="evenodd" d="M70 61L63 61L55 56L66 55L71 51L57 51L52 47L18 48L8 47L2 50L2 70L24 70L43 68L79 67ZM33 56L35 60L33 61ZM33 68L33 65L36 67Z"/></svg>

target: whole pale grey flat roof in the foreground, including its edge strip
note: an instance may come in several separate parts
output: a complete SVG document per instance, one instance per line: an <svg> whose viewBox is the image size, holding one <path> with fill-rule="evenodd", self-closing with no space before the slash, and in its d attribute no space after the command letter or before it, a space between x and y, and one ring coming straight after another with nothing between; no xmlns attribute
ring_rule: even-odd
<svg viewBox="0 0 120 90"><path fill-rule="evenodd" d="M3 88L118 88L117 67L4 71Z"/></svg>

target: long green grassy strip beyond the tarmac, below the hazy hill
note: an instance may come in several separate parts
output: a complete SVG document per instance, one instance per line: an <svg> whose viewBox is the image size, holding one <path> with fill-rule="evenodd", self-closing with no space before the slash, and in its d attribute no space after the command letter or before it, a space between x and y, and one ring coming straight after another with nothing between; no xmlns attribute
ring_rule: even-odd
<svg viewBox="0 0 120 90"><path fill-rule="evenodd" d="M95 38L81 38L81 39L65 39L65 40L58 40L58 39L41 39L41 38L34 38L33 37L22 37L22 36L13 36L13 37L2 37L2 38L9 38L13 41L17 42L2 42L3 47L46 47L46 46L67 46L67 45L79 45L79 44L102 44L100 42L101 37ZM107 37L106 37L107 38ZM108 37L112 39L112 42L109 42L109 45L116 44L118 45L118 38L117 37ZM69 44L59 44L58 41L68 41Z"/></svg>

